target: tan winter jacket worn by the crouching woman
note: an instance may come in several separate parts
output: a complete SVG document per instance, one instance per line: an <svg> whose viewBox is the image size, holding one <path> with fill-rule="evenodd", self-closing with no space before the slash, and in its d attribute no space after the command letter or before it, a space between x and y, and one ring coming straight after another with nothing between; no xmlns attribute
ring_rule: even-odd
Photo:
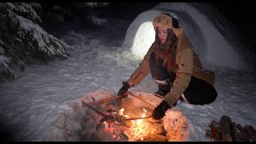
<svg viewBox="0 0 256 144"><path fill-rule="evenodd" d="M174 34L178 38L178 52L176 55L176 65L172 67L171 71L176 74L176 78L173 82L173 86L170 88L170 92L166 94L164 98L170 106L173 106L186 90L192 75L210 83L211 85L214 85L215 78L215 74L210 70L202 70L202 64L198 55L194 53L194 50L192 50L192 45L184 31L180 29ZM155 49L156 44L154 42L152 46L150 46L150 49L146 53L137 70L135 70L127 80L130 86L138 85L138 83L142 81L142 78L148 74L150 71L150 54L152 54Z"/></svg>

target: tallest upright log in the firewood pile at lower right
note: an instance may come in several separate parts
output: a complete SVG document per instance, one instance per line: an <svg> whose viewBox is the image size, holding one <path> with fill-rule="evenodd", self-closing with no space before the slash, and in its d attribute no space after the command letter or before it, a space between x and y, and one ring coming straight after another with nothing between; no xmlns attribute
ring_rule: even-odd
<svg viewBox="0 0 256 144"><path fill-rule="evenodd" d="M230 128L231 128L230 117L227 115L223 115L222 118L220 119L220 126L219 126L223 141L228 141L228 142L232 141L232 138L230 135Z"/></svg>

